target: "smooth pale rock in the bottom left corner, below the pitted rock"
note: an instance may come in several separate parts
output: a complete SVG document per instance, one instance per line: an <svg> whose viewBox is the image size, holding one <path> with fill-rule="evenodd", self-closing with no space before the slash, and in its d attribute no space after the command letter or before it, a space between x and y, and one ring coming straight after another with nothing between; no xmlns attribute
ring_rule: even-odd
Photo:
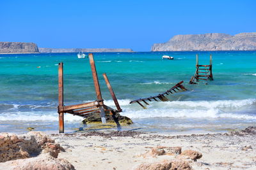
<svg viewBox="0 0 256 170"><path fill-rule="evenodd" d="M42 154L29 159L10 160L0 163L0 169L10 170L74 170L74 166L65 159L56 159L49 154Z"/></svg>

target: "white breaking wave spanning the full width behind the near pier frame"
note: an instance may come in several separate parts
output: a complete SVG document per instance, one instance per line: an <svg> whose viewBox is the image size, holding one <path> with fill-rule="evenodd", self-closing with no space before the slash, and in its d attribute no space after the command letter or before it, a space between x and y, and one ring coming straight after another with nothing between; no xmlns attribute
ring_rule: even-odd
<svg viewBox="0 0 256 170"><path fill-rule="evenodd" d="M129 104L131 99L119 99L122 115L130 118L235 118L256 120L256 99L219 100L219 101L167 101L150 102L147 110L138 104ZM81 103L89 101L81 101ZM115 108L113 100L104 100L104 104ZM0 121L58 121L56 104L20 105L0 104ZM4 111L2 111L4 110ZM80 121L81 117L65 114L65 121Z"/></svg>

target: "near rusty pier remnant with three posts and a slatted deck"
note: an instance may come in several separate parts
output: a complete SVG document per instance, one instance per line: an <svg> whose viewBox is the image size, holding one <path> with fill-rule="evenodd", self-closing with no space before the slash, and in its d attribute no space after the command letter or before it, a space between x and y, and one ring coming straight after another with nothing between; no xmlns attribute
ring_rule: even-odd
<svg viewBox="0 0 256 170"><path fill-rule="evenodd" d="M93 76L93 83L95 87L95 92L97 96L97 100L89 102L89 103L82 103L82 104L74 104L70 106L64 105L64 93L63 93L63 62L59 63L58 68L58 80L59 80L59 106L58 106L58 114L59 114L59 132L64 132L64 113L70 113L72 115L76 115L79 117L86 117L88 114L92 113L100 113L100 117L102 120L102 124L106 124L106 117L105 113L108 111L111 114L115 114L118 112L121 112L122 109L120 108L120 105L118 104L118 101L116 99L115 93L113 92L113 89L109 83L108 76L106 73L103 74L104 79L106 81L106 84L108 86L108 89L110 91L111 96L113 97L113 101L115 102L117 110L114 110L113 108L106 106L103 102L101 91L100 91L100 85L99 85L99 79L95 67L95 62L93 59L93 54L90 53L88 55L90 60L90 65L92 69L92 76Z"/></svg>

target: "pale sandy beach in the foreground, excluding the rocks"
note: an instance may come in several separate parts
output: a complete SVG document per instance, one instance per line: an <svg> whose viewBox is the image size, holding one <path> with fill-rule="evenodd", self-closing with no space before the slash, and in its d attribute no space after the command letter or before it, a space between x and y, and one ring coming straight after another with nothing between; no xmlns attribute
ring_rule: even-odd
<svg viewBox="0 0 256 170"><path fill-rule="evenodd" d="M143 163L183 159L193 169L255 169L256 133L254 131L218 134L190 134L182 136L153 133L86 132L52 134L66 152L59 158L67 159L76 169L136 169ZM156 146L180 146L184 150L202 153L194 160L179 154L152 155Z"/></svg>

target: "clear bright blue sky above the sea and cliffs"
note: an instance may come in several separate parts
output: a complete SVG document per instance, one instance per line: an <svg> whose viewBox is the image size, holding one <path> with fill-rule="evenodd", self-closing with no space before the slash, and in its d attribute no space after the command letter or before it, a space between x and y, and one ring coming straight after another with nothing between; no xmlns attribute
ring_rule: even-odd
<svg viewBox="0 0 256 170"><path fill-rule="evenodd" d="M149 51L176 34L256 32L255 0L0 1L0 41Z"/></svg>

